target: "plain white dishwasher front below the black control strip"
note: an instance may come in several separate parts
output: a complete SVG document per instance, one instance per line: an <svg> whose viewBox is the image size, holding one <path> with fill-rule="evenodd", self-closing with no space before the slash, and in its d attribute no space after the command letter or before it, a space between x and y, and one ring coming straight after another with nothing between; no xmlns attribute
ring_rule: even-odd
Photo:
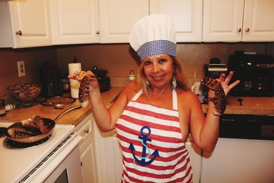
<svg viewBox="0 0 274 183"><path fill-rule="evenodd" d="M219 138L203 152L201 183L274 182L274 141Z"/></svg>

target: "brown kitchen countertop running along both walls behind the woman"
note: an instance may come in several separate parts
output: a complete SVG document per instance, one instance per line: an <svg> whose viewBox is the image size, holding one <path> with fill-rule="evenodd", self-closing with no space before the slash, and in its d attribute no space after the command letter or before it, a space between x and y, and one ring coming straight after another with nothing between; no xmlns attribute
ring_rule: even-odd
<svg viewBox="0 0 274 183"><path fill-rule="evenodd" d="M110 106L112 99L120 93L122 87L112 87L110 90L101 93L103 103L105 106ZM237 101L239 97L228 97L227 108L225 114L258 114L258 115L274 115L274 97L240 97L242 99L242 106ZM66 105L64 109L55 109L52 106L42 106L36 103L29 108L15 108L8 111L4 117L0 117L0 122L15 122L23 119L28 119L34 115L40 117L55 119L58 114L64 112L66 109L79 105L79 101L75 101ZM96 107L96 106L93 106ZM203 112L206 112L208 105L202 104ZM92 112L90 104L86 108L72 110L64 114L56 123L70 123L73 125L79 124L84 120L88 114Z"/></svg>

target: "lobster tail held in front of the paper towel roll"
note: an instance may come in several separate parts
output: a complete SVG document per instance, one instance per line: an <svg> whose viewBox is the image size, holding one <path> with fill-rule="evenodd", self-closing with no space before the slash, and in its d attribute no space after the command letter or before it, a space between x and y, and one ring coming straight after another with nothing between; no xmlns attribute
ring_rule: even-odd
<svg viewBox="0 0 274 183"><path fill-rule="evenodd" d="M81 84L79 87L79 102L83 108L88 106L88 97L89 97L89 84L92 80L97 80L96 77L86 75L82 78Z"/></svg>

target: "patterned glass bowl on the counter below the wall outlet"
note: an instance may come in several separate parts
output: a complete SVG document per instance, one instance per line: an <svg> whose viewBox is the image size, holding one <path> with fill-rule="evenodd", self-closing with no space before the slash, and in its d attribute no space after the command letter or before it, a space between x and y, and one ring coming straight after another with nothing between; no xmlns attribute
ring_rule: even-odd
<svg viewBox="0 0 274 183"><path fill-rule="evenodd" d="M41 92L41 86L36 83L15 84L8 86L7 89L16 101L22 103L24 108L32 106L34 100Z"/></svg>

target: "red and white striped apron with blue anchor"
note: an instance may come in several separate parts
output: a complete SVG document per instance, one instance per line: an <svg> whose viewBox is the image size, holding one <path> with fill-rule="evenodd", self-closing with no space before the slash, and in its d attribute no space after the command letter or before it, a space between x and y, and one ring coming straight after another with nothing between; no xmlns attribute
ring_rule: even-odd
<svg viewBox="0 0 274 183"><path fill-rule="evenodd" d="M192 182L173 90L173 110L129 101L116 122L123 155L122 182Z"/></svg>

